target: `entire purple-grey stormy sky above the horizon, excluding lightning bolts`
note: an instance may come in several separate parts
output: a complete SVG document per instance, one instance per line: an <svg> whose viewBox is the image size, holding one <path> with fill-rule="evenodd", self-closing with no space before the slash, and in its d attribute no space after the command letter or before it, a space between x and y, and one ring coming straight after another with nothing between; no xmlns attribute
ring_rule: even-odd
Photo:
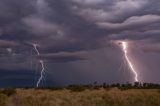
<svg viewBox="0 0 160 106"><path fill-rule="evenodd" d="M0 86L160 83L159 0L0 0ZM37 44L37 56L32 44Z"/></svg>

